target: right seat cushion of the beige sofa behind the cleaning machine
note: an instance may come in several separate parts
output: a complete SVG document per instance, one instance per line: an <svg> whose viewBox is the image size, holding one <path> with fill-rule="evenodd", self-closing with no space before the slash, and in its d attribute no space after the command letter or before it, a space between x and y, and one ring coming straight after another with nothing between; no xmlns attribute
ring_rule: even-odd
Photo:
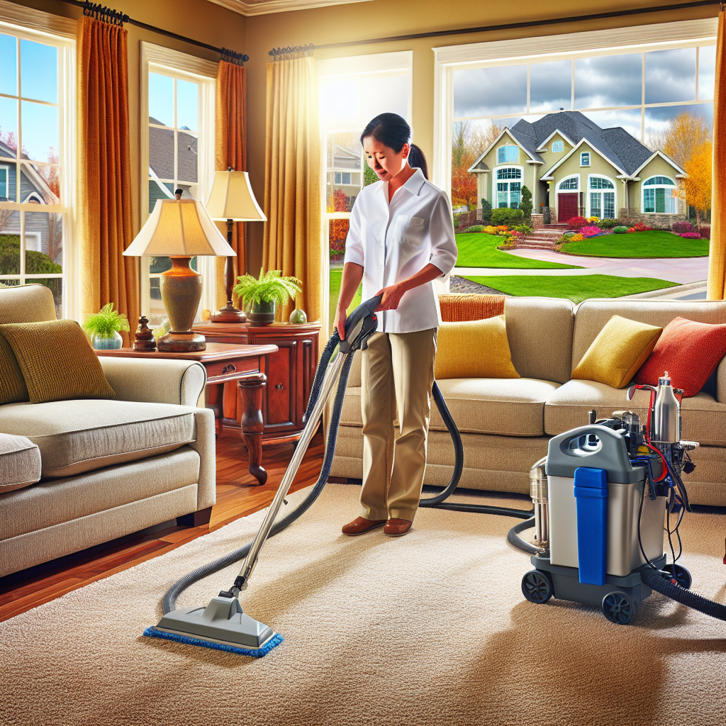
<svg viewBox="0 0 726 726"><path fill-rule="evenodd" d="M611 388L592 380L571 380L554 391L544 404L544 431L555 436L576 426L587 425L587 412L597 411L606 418L613 411L630 410L645 421L648 391L636 391L632 401L622 388ZM681 404L683 439L707 446L726 446L726 404L719 404L708 393L698 393Z"/></svg>

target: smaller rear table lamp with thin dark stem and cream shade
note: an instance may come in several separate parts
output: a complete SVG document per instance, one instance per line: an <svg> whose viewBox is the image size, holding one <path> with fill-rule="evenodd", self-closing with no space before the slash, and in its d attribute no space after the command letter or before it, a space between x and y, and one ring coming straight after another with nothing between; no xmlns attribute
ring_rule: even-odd
<svg viewBox="0 0 726 726"><path fill-rule="evenodd" d="M232 246L234 222L263 221L267 218L260 209L250 186L250 176L246 171L215 171L212 190L207 201L207 211L212 219L227 220L227 242ZM240 270L240 274L244 274ZM227 305L216 311L210 318L212 322L246 322L247 316L232 303L234 287L234 264L227 258L224 265L224 289Z"/></svg>

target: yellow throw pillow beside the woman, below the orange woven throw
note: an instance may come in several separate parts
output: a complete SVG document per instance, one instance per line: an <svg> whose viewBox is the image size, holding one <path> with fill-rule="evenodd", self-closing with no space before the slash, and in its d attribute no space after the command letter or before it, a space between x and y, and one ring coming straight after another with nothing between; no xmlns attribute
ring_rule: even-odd
<svg viewBox="0 0 726 726"><path fill-rule="evenodd" d="M442 322L436 336L434 376L521 378L514 370L505 317Z"/></svg>

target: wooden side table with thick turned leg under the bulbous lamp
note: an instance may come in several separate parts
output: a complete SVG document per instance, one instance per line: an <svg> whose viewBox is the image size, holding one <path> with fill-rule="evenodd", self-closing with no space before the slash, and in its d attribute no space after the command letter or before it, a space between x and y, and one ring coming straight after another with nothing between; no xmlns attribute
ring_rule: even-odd
<svg viewBox="0 0 726 726"><path fill-rule="evenodd" d="M195 361L207 371L207 404L214 410L214 425L219 436L222 428L221 388L232 384L240 391L241 406L237 412L240 420L242 440L247 446L249 471L258 484L267 481L267 472L262 467L262 393L266 386L265 371L268 356L277 353L274 345L229 345L228 343L207 343L204 351L193 353L167 353L160 351L134 351L133 348L118 348L115 351L96 351L99 356L117 358L165 358Z"/></svg>

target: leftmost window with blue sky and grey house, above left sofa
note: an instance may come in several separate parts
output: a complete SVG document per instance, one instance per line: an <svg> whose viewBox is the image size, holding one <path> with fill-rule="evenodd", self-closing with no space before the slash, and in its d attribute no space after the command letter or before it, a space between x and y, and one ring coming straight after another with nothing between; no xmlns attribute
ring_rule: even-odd
<svg viewBox="0 0 726 726"><path fill-rule="evenodd" d="M0 22L0 284L49 287L59 318L70 315L75 151L62 130L73 126L74 47L70 38Z"/></svg>

